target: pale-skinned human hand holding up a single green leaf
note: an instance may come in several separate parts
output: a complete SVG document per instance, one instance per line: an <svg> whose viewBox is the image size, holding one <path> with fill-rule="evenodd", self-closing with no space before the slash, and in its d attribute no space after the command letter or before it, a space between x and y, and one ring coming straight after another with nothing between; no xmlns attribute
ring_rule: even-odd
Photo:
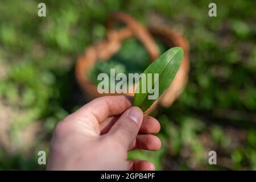
<svg viewBox="0 0 256 182"><path fill-rule="evenodd" d="M159 150L159 122L132 107L133 97L106 96L57 123L48 170L154 170L145 160L127 160L135 149Z"/></svg>

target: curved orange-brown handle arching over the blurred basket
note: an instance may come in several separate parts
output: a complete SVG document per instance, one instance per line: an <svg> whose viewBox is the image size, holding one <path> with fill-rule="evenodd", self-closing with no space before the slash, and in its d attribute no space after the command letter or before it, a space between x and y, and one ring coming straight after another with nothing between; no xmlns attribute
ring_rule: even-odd
<svg viewBox="0 0 256 182"><path fill-rule="evenodd" d="M156 46L154 39L152 38L150 32L135 19L125 13L114 13L110 16L107 21L106 29L108 36L114 34L114 23L122 22L126 24L126 28L119 30L119 39L125 39L131 35L136 36L143 46L146 48L148 54L150 55L151 61L154 61L159 56L158 46ZM123 34L121 34L123 33Z"/></svg>

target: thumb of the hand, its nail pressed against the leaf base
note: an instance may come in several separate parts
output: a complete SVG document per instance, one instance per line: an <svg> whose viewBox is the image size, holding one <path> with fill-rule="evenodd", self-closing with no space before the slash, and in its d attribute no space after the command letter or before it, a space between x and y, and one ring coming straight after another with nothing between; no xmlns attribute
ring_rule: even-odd
<svg viewBox="0 0 256 182"><path fill-rule="evenodd" d="M108 134L112 135L115 140L122 143L128 150L138 135L142 121L142 110L139 107L130 107L114 123Z"/></svg>

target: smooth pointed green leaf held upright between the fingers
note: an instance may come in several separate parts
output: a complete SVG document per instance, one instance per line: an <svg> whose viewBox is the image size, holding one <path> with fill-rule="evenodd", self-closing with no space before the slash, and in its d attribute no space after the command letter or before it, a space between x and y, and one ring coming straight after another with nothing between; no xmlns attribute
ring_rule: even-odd
<svg viewBox="0 0 256 182"><path fill-rule="evenodd" d="M174 77L179 70L180 63L183 60L183 49L180 47L174 47L164 52L153 63L151 63L144 71L146 73L146 81L143 81L142 77L139 80L138 88L135 92L133 106L141 107L143 111L146 111L163 93L169 88ZM152 73L152 86L148 87L148 73ZM158 84L158 97L155 99L149 99L148 96L154 93L157 83L154 79L154 73L159 74ZM143 84L143 85L142 85ZM145 85L146 84L146 85ZM154 85L154 86L153 86ZM146 92L142 92L142 86L146 86Z"/></svg>

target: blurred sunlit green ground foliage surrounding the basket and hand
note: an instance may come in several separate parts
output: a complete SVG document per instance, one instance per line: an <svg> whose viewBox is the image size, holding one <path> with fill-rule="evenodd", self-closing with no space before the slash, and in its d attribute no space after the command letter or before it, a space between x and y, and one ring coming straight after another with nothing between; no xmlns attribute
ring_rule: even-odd
<svg viewBox="0 0 256 182"><path fill-rule="evenodd" d="M1 133L10 138L7 144L0 140L0 169L44 169L37 152L48 151L55 123L85 104L75 82L76 59L104 38L106 19L118 10L143 24L160 16L191 47L183 94L152 113L162 126L163 147L129 158L151 160L156 169L256 170L255 1L214 1L213 18L208 0L48 0L42 18L39 2L0 2L0 117L9 126ZM123 49L134 51L134 61L146 58L133 48ZM27 145L23 133L35 123L40 132ZM217 152L215 166L208 164L210 150Z"/></svg>

